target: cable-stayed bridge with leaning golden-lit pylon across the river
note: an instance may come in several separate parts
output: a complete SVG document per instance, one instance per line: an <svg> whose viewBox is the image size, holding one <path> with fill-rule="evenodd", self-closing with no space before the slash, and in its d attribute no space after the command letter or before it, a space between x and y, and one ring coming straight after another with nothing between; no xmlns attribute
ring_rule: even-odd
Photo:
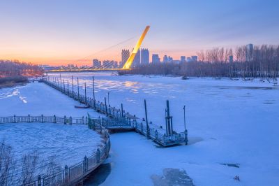
<svg viewBox="0 0 279 186"><path fill-rule="evenodd" d="M138 50L140 50L140 45L142 45L142 41L146 36L147 32L149 31L150 26L146 26L142 35L140 36L139 40L137 41L133 51L131 52L130 56L128 57L125 64L114 64L113 61L104 61L103 64L98 64L94 66L64 66L64 67L57 67L52 70L46 70L46 72L78 72L78 71L122 71L122 70L130 70L133 61L135 59L135 55L137 55Z"/></svg>

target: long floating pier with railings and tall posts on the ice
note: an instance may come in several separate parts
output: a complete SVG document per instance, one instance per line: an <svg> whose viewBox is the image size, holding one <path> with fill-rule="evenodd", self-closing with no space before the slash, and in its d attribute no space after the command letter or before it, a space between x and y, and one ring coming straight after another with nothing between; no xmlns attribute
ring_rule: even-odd
<svg viewBox="0 0 279 186"><path fill-rule="evenodd" d="M167 116L165 117L166 129L162 129L156 127L156 125L149 124L149 122L147 121L147 114L146 114L146 122L143 123L135 115L130 115L127 112L125 113L123 111L122 104L121 104L121 108L115 108L110 105L107 106L106 100L105 103L101 101L96 101L94 90L93 90L93 99L92 99L91 97L86 96L86 93L85 95L80 94L79 87L77 88L77 92L75 92L73 89L73 84L72 84L72 90L69 89L69 85L66 86L64 84L64 81L62 86L61 79L60 82L57 82L56 80L47 77L43 79L43 83L45 83L46 85L50 85L50 87L59 90L60 92L66 94L70 98L73 98L79 101L80 103L83 103L84 105L93 108L98 113L102 113L103 115L106 115L106 117L89 118L90 122L93 124L93 127L98 125L98 126L105 127L105 129L113 130L113 131L134 130L137 131L139 134L146 136L146 138L151 139L155 143L158 143L159 145L163 145L165 147L170 145L180 144L180 143L185 143L187 145L188 143L187 130L181 133L176 133L172 129L172 117L169 116L168 101L167 101L168 112L167 112Z"/></svg>

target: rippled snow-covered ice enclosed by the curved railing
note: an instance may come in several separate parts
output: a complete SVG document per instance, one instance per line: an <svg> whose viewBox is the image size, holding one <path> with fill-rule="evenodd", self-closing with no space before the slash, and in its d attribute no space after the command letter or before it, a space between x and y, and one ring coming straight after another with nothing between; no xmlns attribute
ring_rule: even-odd
<svg viewBox="0 0 279 186"><path fill-rule="evenodd" d="M0 136L13 148L18 163L23 155L36 152L41 160L54 159L61 167L81 162L101 144L100 135L83 124L0 124Z"/></svg>

